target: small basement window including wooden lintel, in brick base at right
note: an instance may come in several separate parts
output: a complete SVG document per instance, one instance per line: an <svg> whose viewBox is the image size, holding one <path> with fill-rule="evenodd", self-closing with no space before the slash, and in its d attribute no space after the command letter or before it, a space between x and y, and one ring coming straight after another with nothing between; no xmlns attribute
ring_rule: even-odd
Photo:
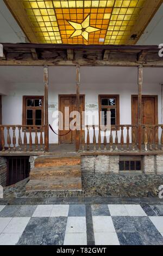
<svg viewBox="0 0 163 256"><path fill-rule="evenodd" d="M141 168L142 168L141 157L120 156L119 166L120 166L120 172L141 171Z"/></svg>

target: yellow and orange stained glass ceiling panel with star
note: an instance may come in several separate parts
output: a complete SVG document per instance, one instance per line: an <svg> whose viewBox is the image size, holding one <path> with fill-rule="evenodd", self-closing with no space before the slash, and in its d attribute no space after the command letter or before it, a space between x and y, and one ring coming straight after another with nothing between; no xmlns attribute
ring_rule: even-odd
<svg viewBox="0 0 163 256"><path fill-rule="evenodd" d="M125 44L146 0L21 0L40 43Z"/></svg>

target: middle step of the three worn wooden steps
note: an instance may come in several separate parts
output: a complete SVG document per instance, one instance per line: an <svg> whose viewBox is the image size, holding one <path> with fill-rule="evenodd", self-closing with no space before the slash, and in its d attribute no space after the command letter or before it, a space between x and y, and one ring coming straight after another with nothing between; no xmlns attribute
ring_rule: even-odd
<svg viewBox="0 0 163 256"><path fill-rule="evenodd" d="M47 180L59 176L63 178L81 177L80 165L35 167L30 171L29 178L30 180Z"/></svg>

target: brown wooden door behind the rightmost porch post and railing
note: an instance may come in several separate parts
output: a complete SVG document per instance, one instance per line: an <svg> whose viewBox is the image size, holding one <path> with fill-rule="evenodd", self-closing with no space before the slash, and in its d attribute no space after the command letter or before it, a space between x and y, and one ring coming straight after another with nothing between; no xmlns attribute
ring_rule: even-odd
<svg viewBox="0 0 163 256"><path fill-rule="evenodd" d="M137 125L138 114L137 114L137 96L133 95L131 99L131 115L132 125ZM142 120L143 125L158 125L158 96L153 95L142 95ZM147 135L149 138L150 129L147 129ZM136 134L137 137L137 134ZM153 129L152 141L154 142L156 133ZM142 131L142 143L144 140L144 134ZM136 138L137 141L137 138Z"/></svg>

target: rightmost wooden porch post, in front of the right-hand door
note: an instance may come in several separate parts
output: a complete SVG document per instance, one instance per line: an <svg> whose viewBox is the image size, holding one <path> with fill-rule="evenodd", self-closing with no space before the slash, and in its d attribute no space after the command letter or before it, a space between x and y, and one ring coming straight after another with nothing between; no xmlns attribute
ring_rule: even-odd
<svg viewBox="0 0 163 256"><path fill-rule="evenodd" d="M138 144L139 144L139 150L141 150L141 144L142 144L142 81L143 81L143 66L140 65L138 67Z"/></svg>

